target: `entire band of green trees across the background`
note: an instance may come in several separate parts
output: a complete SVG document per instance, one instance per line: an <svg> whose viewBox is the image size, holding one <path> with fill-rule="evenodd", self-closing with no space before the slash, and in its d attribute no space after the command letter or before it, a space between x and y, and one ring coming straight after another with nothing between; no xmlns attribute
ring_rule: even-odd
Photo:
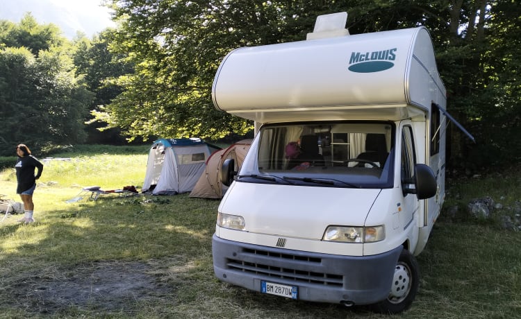
<svg viewBox="0 0 521 319"><path fill-rule="evenodd" d="M213 78L224 56L239 46L304 40L317 15L346 11L352 34L429 28L448 110L477 139L470 144L449 128L452 165L479 169L520 160L521 19L514 0L106 5L115 10L118 28L92 40L78 37L74 44L30 14L19 24L0 21L0 112L8 121L0 128L0 146L85 141L85 121L91 143L123 143L120 132L142 140L243 135L251 123L212 103Z"/></svg>

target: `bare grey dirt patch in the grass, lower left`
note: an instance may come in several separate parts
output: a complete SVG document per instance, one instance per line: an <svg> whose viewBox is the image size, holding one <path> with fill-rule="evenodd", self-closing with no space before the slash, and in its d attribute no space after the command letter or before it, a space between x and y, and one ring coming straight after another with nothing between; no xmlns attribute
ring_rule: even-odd
<svg viewBox="0 0 521 319"><path fill-rule="evenodd" d="M140 262L35 270L9 286L6 292L13 307L33 313L56 313L69 307L132 313L136 303L153 301L169 290L154 266Z"/></svg>

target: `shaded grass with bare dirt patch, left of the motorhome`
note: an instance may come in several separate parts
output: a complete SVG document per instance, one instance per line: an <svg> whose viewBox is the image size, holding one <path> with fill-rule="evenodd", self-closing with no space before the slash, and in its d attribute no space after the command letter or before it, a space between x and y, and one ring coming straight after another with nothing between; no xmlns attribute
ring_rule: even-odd
<svg viewBox="0 0 521 319"><path fill-rule="evenodd" d="M20 318L377 318L363 307L219 282L211 256L218 205L188 195L104 198L37 215L31 225L2 225L11 243L0 257L0 311Z"/></svg>

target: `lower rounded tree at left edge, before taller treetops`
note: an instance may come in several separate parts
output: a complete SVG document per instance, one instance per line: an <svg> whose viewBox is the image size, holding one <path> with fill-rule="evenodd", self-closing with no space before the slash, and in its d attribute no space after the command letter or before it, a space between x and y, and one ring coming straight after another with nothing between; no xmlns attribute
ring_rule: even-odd
<svg viewBox="0 0 521 319"><path fill-rule="evenodd" d="M85 139L85 105L92 97L76 83L67 57L41 51L38 58L24 48L0 51L0 103L5 123L1 143L24 143L42 148L52 142ZM4 76L9 74L10 76Z"/></svg>

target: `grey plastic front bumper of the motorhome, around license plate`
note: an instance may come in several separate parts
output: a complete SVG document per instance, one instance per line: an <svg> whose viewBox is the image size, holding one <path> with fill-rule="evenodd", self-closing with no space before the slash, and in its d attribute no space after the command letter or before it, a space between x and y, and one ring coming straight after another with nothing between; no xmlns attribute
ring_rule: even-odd
<svg viewBox="0 0 521 319"><path fill-rule="evenodd" d="M402 246L372 256L340 256L212 239L223 282L261 291L261 281L298 286L298 299L374 304L388 297Z"/></svg>

